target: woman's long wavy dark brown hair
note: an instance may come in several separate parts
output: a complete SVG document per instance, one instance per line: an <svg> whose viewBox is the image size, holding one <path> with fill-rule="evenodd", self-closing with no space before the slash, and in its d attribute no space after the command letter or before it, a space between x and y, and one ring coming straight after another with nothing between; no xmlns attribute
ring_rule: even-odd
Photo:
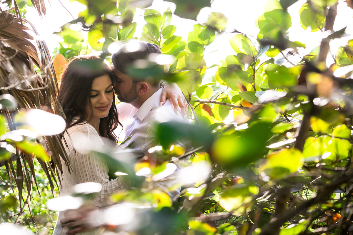
<svg viewBox="0 0 353 235"><path fill-rule="evenodd" d="M66 116L66 128L86 121L88 116L85 107L87 102L90 102L89 95L92 82L95 78L103 75L109 75L112 79L109 66L104 63L104 58L99 56L77 56L67 64L62 73L59 88L59 96ZM78 117L78 120L73 122L73 117ZM119 124L114 96L108 116L100 120L100 135L117 143L118 140L114 130Z"/></svg>

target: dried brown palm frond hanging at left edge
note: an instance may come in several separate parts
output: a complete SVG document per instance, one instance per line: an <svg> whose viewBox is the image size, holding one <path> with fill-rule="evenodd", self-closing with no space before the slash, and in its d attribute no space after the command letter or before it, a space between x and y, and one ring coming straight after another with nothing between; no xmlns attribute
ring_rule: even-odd
<svg viewBox="0 0 353 235"><path fill-rule="evenodd" d="M42 1L32 0L32 2ZM43 11L43 8L41 9ZM44 109L64 117L48 48L43 41L34 40L29 32L38 35L28 20L22 18L21 21L17 16L5 11L0 13L0 94L11 94L16 98L19 108ZM7 118L10 130L14 129L12 125L14 113L2 110L2 114ZM58 136L40 137L38 142L50 153L56 169L62 169L60 158L68 166L67 154ZM3 165L6 167L10 182L14 182L18 188L21 203L23 182L29 194L32 183L37 183L34 156L19 150L16 150L16 153L16 157L6 160ZM15 159L16 171L12 162ZM37 158L37 161L46 173L53 191L54 183L51 177L57 183L54 169L40 158Z"/></svg>

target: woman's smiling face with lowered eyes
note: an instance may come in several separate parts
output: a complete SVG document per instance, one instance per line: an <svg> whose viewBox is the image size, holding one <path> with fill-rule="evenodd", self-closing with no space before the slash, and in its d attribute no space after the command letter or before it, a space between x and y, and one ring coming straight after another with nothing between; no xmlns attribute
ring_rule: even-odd
<svg viewBox="0 0 353 235"><path fill-rule="evenodd" d="M95 78L86 104L88 120L99 121L107 117L114 98L112 80L108 75ZM89 102L90 101L90 102Z"/></svg>

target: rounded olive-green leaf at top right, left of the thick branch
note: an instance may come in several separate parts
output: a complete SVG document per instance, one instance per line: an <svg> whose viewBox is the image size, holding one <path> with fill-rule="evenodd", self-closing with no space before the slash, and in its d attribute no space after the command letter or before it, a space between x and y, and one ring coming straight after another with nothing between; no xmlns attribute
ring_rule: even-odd
<svg viewBox="0 0 353 235"><path fill-rule="evenodd" d="M300 25L303 29L306 30L309 26L311 27L311 32L316 32L319 31L319 29L323 29L325 16L323 14L319 14L309 4L305 3L301 6L299 16Z"/></svg>

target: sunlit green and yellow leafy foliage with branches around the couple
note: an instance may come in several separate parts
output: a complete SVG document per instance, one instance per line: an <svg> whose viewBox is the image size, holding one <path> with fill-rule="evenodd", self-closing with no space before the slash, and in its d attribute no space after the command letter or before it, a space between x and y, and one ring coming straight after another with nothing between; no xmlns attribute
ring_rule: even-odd
<svg viewBox="0 0 353 235"><path fill-rule="evenodd" d="M108 55L119 41L133 38L137 27L132 22L135 8L150 5L150 2L141 6L139 1L127 0L118 1L118 7L109 0L79 2L87 5L87 10L57 33L64 39L54 52L57 76L59 68L66 63L65 58L92 51ZM220 12L212 12L204 24L195 24L184 38L174 35L176 26L170 25L170 18L176 14L195 19L202 7L210 5L209 1L194 4L175 1L174 14L170 9L144 11L146 22L138 39L159 45L163 54L173 55L174 60L169 64L168 74L153 66L142 70L134 68L131 73L157 73L165 80L177 82L194 108L194 113L189 113L194 125L160 125L158 144L162 148L156 148L155 154L164 163L140 168L150 168L150 173L145 175L147 182L154 175L167 171L172 156L184 156L185 149L175 145L179 137L189 139L196 149L185 168L205 177L189 174L194 182L181 183L185 186L180 195L183 202L173 206L162 199L161 192L134 190L126 195L116 194L117 202L153 205L157 200L156 208L146 213L150 218L170 220L170 223L150 227L141 223L137 232L350 233L353 212L352 42L347 40L337 51L329 47L329 42L335 38L352 39L346 35L345 28L333 32L337 5L344 3L311 0L301 6L298 14L304 30L328 31L322 34L325 36L321 43L309 48L309 54L303 54L306 45L290 41L288 37L292 18L287 8L294 2L297 1L269 0L264 13L255 22L259 28L258 35L253 35L256 39L234 30L228 42L233 51L221 62L208 67L204 51L216 37L225 33L227 18ZM347 7L352 7L351 1L345 2ZM22 16L28 4L31 5L18 1ZM37 9L43 13L42 8ZM72 24L88 33L72 30ZM328 56L335 63L327 66ZM217 68L214 76L204 80L206 71L212 68ZM176 146L172 150L171 144ZM38 205L45 205L46 198L50 197L48 181L42 177L42 168L36 167L36 179L43 184ZM14 222L17 217L8 215L19 212L19 205L15 200L16 192L9 193L5 172L3 169L1 173L1 187L5 190L2 190L0 203L1 208L6 208L2 219ZM24 187L25 194L26 189ZM55 217L53 212L45 206L34 205L35 192L32 197L32 215L39 227L53 226L50 224ZM19 223L36 230L30 216L24 213Z"/></svg>

